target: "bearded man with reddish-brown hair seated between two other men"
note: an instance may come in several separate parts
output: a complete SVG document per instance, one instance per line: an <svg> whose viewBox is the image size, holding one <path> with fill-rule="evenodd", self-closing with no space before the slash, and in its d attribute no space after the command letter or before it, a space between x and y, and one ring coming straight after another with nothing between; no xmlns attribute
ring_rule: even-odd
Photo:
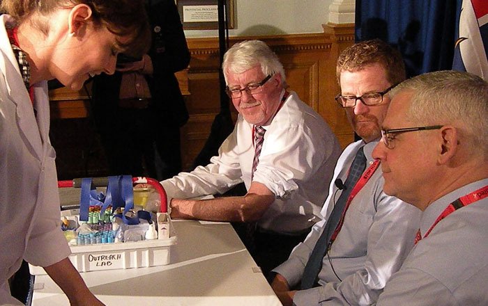
<svg viewBox="0 0 488 306"><path fill-rule="evenodd" d="M342 93L336 100L362 140L346 147L337 161L323 205L324 220L314 225L289 259L273 270L277 274L272 287L285 306L375 303L390 275L413 247L418 229L420 211L383 193L381 171L374 171L350 202L342 229L321 260L316 287L303 288L305 266L319 244L337 198L354 187L342 185L356 152L363 148L367 168L374 163L372 150L381 138L380 127L390 102L386 94L405 79L404 63L398 51L381 40L360 42L338 58L337 79ZM296 288L301 290L293 290Z"/></svg>

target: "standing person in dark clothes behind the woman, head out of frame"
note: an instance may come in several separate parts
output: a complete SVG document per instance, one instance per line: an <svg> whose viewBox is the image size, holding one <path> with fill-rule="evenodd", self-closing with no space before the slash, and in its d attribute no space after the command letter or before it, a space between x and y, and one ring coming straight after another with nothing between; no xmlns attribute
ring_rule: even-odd
<svg viewBox="0 0 488 306"><path fill-rule="evenodd" d="M188 120L175 72L190 51L173 0L146 0L151 49L119 56L114 75L93 79L93 118L110 175L167 179L181 171L180 127Z"/></svg>

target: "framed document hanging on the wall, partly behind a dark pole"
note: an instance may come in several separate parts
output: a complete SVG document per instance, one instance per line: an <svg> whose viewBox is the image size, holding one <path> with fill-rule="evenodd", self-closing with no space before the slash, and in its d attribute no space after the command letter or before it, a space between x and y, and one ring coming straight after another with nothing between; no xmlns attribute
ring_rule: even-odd
<svg viewBox="0 0 488 306"><path fill-rule="evenodd" d="M218 0L176 0L185 30L218 29ZM226 0L229 29L234 29L234 0Z"/></svg>

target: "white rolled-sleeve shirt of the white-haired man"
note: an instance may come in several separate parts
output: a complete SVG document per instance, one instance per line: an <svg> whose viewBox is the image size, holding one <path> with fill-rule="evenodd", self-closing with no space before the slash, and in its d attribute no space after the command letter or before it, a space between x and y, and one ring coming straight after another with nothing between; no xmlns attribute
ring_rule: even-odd
<svg viewBox="0 0 488 306"><path fill-rule="evenodd" d="M234 131L208 166L162 181L169 199L224 193L241 182L249 189L254 159L252 128L253 124L238 115ZM290 92L264 128L254 181L264 184L276 200L258 225L282 234L303 232L321 218L326 186L340 155L339 143L321 116L296 92Z"/></svg>

